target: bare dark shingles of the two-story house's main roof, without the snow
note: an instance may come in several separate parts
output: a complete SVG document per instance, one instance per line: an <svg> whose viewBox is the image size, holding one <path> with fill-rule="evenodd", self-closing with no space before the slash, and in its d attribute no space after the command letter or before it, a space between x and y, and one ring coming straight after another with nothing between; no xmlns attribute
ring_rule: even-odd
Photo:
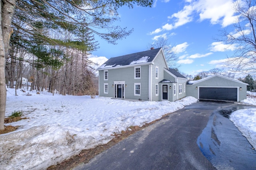
<svg viewBox="0 0 256 170"><path fill-rule="evenodd" d="M133 61L138 61L142 57L148 57L148 61L144 62L144 63L148 63L153 61L153 59L156 57L160 49L161 48L142 51L142 52L128 54L128 55L122 55L119 57L113 57L113 58L110 58L108 61L106 61L104 64L106 64L105 66L112 66L112 67L125 66L125 65L130 65L130 63ZM98 69L104 68L104 64L102 64L102 66L100 66Z"/></svg>

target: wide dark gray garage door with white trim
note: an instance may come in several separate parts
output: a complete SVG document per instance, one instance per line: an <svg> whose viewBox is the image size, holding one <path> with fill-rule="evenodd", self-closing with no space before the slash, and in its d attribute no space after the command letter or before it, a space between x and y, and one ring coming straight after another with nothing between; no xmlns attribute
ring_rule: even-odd
<svg viewBox="0 0 256 170"><path fill-rule="evenodd" d="M199 99L237 101L237 88L199 88Z"/></svg>

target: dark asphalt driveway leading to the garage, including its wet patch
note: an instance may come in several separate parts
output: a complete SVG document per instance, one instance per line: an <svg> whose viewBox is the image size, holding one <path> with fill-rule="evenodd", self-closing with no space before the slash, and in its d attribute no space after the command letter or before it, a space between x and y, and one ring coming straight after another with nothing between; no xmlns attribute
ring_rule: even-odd
<svg viewBox="0 0 256 170"><path fill-rule="evenodd" d="M255 150L220 114L243 108L249 107L214 102L186 106L74 170L255 169Z"/></svg>

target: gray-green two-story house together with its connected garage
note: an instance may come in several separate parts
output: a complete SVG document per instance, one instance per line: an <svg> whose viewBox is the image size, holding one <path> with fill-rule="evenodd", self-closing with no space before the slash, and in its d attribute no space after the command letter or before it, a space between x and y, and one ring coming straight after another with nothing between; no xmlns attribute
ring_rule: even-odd
<svg viewBox="0 0 256 170"><path fill-rule="evenodd" d="M193 96L202 100L240 102L246 83L221 75L188 81L168 68L162 48L113 57L99 71L99 96L170 102Z"/></svg>

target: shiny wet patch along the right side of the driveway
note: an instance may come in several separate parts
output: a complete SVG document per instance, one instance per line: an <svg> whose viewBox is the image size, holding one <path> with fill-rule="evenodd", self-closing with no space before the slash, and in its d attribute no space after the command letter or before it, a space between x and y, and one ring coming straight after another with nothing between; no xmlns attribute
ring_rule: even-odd
<svg viewBox="0 0 256 170"><path fill-rule="evenodd" d="M256 169L256 151L228 119L235 110L245 108L238 105L214 111L197 139L198 147L217 169Z"/></svg>

